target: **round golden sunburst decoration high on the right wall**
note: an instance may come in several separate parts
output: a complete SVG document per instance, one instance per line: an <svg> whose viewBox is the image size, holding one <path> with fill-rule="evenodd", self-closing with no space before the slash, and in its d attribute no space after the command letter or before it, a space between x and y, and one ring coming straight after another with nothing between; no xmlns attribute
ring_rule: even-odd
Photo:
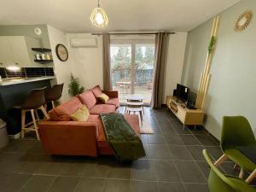
<svg viewBox="0 0 256 192"><path fill-rule="evenodd" d="M253 20L253 11L247 10L243 12L236 20L235 31L242 32L247 28L247 26L250 25L252 20Z"/></svg>

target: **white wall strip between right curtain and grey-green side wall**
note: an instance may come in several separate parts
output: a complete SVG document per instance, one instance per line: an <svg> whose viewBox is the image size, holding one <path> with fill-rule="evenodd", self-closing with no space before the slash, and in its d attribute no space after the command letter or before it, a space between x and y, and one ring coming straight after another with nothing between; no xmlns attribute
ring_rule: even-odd
<svg viewBox="0 0 256 192"><path fill-rule="evenodd" d="M166 96L172 96L177 83L181 82L186 42L187 32L177 32L176 34L170 35L166 58L166 80L163 103L166 102Z"/></svg>

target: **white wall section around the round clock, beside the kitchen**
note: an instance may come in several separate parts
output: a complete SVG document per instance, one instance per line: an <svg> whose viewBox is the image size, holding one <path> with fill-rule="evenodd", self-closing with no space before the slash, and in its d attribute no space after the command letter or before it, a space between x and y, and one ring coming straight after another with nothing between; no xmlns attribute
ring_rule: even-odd
<svg viewBox="0 0 256 192"><path fill-rule="evenodd" d="M61 96L61 102L68 100L69 96L67 93L67 87L69 83L69 76L72 72L73 62L68 59L63 62L60 61L55 53L55 46L57 44L64 44L67 46L67 38L65 32L61 32L59 29L56 29L53 26L47 26L49 33L49 44L52 51L52 56L54 60L55 76L58 84L64 83L64 88Z"/></svg>

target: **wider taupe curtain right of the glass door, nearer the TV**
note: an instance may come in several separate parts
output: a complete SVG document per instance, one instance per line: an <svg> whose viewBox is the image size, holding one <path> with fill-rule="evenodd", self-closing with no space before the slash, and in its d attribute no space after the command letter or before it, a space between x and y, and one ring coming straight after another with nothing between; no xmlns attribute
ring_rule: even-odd
<svg viewBox="0 0 256 192"><path fill-rule="evenodd" d="M151 108L160 108L162 105L168 38L167 32L158 32L155 35L154 86L150 103Z"/></svg>

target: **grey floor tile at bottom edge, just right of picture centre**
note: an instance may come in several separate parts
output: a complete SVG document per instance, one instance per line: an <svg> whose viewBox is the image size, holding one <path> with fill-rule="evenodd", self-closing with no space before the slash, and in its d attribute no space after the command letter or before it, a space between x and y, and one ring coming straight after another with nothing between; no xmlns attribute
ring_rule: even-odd
<svg viewBox="0 0 256 192"><path fill-rule="evenodd" d="M156 192L155 182L131 181L131 192Z"/></svg>

